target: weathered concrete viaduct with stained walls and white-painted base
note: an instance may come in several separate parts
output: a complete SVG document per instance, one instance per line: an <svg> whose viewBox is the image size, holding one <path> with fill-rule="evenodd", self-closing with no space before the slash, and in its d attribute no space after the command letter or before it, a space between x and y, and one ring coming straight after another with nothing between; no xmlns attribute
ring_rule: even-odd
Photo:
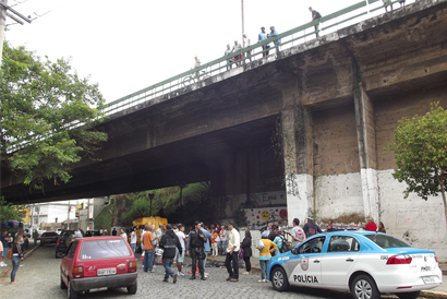
<svg viewBox="0 0 447 299"><path fill-rule="evenodd" d="M289 224L309 208L360 213L446 259L442 200L404 200L384 151L399 119L447 108L446 33L447 0L369 19L114 113L98 125L100 162L46 194L2 174L2 194L31 203L210 181L228 218L241 206L249 222L259 208L287 210Z"/></svg>

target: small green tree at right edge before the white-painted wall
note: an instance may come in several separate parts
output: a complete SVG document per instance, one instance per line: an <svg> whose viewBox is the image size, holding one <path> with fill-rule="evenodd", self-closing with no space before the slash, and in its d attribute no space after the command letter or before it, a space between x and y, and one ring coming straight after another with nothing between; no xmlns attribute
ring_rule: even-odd
<svg viewBox="0 0 447 299"><path fill-rule="evenodd" d="M396 153L398 168L392 176L408 186L406 199L410 192L425 201L440 193L447 226L447 111L438 105L432 104L425 116L402 118L388 151Z"/></svg>

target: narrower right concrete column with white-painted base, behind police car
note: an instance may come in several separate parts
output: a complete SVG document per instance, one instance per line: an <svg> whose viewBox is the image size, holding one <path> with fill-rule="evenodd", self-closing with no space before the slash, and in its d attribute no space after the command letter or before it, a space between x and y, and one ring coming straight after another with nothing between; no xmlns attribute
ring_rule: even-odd
<svg viewBox="0 0 447 299"><path fill-rule="evenodd" d="M362 83L354 92L357 135L359 144L360 172L362 178L363 208L365 217L379 222L379 198L377 183L377 154L374 123L374 107Z"/></svg>

